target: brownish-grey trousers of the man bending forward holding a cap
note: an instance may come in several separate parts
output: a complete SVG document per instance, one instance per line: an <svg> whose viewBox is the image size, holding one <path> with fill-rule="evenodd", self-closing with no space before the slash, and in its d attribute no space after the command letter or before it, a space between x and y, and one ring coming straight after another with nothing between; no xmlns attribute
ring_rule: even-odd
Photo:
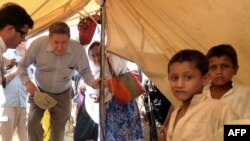
<svg viewBox="0 0 250 141"><path fill-rule="evenodd" d="M64 141L65 125L70 118L71 113L71 96L72 88L60 94L50 94L57 104L49 109L50 113L50 140L51 141ZM44 130L42 128L41 119L44 114L44 109L39 108L34 103L34 96L30 95L28 102L30 103L28 115L28 136L29 141L42 141Z"/></svg>

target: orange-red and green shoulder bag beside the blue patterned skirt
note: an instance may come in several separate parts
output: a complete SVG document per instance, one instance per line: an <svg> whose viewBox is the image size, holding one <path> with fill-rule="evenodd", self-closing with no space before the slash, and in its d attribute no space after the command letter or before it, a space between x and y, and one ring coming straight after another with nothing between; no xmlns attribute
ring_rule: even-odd
<svg viewBox="0 0 250 141"><path fill-rule="evenodd" d="M111 80L108 80L107 84L110 92L120 104L129 103L145 92L138 78L138 73L135 72L113 76Z"/></svg>

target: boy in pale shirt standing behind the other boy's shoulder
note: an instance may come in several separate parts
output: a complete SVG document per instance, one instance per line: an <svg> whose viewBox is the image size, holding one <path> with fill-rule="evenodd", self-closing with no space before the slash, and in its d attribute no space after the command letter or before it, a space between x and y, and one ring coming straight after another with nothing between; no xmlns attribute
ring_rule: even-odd
<svg viewBox="0 0 250 141"><path fill-rule="evenodd" d="M209 78L207 95L221 99L235 111L240 119L250 118L250 87L232 81L239 69L237 54L231 45L221 44L207 52Z"/></svg>

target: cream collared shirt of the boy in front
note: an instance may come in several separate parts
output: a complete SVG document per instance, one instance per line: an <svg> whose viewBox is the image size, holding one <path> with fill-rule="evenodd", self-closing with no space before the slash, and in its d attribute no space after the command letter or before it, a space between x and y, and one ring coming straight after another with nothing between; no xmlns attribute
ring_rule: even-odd
<svg viewBox="0 0 250 141"><path fill-rule="evenodd" d="M197 94L174 127L180 108L177 107L171 114L168 141L206 141L225 123L237 119L236 114L224 102L208 98L205 94Z"/></svg>

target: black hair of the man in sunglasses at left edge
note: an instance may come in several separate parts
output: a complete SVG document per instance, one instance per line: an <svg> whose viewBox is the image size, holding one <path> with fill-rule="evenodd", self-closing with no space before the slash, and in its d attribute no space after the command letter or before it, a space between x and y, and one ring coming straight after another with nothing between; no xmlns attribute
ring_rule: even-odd
<svg viewBox="0 0 250 141"><path fill-rule="evenodd" d="M34 21L23 7L8 2L0 8L0 29L7 25L12 25L17 29L23 28L24 25L33 28Z"/></svg>

